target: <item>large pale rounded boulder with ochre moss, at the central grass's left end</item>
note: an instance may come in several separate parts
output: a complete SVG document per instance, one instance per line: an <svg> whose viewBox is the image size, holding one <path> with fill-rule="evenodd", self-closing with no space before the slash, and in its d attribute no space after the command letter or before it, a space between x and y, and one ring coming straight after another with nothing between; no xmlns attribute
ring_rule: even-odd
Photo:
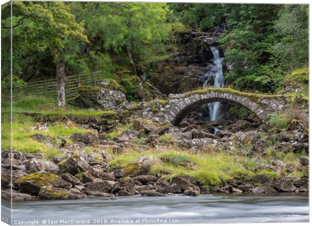
<svg viewBox="0 0 312 226"><path fill-rule="evenodd" d="M139 156L125 167L125 176L135 177L144 175L155 164L162 164L162 160L153 156Z"/></svg>

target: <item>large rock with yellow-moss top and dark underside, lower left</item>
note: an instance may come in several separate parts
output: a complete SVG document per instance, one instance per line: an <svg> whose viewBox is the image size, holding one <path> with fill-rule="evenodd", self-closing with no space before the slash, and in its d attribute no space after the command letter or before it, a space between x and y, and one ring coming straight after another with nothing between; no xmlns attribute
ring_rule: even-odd
<svg viewBox="0 0 312 226"><path fill-rule="evenodd" d="M22 192L38 195L42 186L71 188L71 184L50 172L39 171L19 178L14 183Z"/></svg>

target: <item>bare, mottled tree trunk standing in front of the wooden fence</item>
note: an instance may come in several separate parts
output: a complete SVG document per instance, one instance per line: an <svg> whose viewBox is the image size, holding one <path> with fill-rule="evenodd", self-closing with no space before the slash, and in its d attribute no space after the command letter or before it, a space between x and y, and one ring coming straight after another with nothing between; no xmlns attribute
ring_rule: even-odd
<svg viewBox="0 0 312 226"><path fill-rule="evenodd" d="M66 107L65 102L65 62L64 58L59 55L56 62L56 94L57 105Z"/></svg>

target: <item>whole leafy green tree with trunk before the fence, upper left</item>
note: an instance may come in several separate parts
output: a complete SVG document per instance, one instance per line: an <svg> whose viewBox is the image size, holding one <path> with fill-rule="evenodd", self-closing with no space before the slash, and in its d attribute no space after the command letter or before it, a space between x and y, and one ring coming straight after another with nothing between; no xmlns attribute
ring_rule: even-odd
<svg viewBox="0 0 312 226"><path fill-rule="evenodd" d="M10 29L6 24L10 17L10 5L3 10L2 29ZM29 46L42 52L49 50L56 65L56 93L58 106L65 107L65 52L71 42L89 42L84 34L84 23L76 23L70 8L63 2L13 2L13 33L24 36ZM32 29L29 31L29 29ZM13 48L21 45L18 38Z"/></svg>

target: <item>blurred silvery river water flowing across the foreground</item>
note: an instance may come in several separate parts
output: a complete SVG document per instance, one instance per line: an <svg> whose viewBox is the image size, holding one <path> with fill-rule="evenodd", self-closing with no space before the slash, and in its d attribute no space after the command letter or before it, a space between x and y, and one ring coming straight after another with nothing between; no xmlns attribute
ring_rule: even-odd
<svg viewBox="0 0 312 226"><path fill-rule="evenodd" d="M9 207L2 205L2 212L8 213ZM306 221L308 196L298 193L89 197L13 202L13 224Z"/></svg>

